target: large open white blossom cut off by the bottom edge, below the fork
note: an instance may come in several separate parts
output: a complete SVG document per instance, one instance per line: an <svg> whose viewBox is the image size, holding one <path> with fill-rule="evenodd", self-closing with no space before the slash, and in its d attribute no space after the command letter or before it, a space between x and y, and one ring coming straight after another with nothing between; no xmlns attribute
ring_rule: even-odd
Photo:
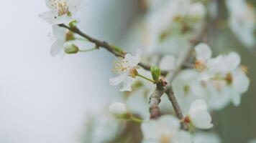
<svg viewBox="0 0 256 143"><path fill-rule="evenodd" d="M180 130L180 122L172 115L164 115L141 125L143 143L191 143L188 132Z"/></svg>

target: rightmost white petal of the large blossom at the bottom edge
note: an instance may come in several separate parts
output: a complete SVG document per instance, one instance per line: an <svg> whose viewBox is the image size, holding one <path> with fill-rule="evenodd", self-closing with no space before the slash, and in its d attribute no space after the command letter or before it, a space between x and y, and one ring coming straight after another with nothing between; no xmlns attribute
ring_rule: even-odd
<svg viewBox="0 0 256 143"><path fill-rule="evenodd" d="M180 131L178 134L175 134L172 140L173 143L191 143L191 135L188 132Z"/></svg>

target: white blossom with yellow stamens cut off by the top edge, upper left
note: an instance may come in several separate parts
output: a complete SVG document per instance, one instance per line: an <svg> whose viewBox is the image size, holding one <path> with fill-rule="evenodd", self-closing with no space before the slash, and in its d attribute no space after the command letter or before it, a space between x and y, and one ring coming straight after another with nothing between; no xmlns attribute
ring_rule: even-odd
<svg viewBox="0 0 256 143"><path fill-rule="evenodd" d="M69 24L81 6L81 0L45 0L45 4L50 11L39 14L40 18L49 24Z"/></svg>

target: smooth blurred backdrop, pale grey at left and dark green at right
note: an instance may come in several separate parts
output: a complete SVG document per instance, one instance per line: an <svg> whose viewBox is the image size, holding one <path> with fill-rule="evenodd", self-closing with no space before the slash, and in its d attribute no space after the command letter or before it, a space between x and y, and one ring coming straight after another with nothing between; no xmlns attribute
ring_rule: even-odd
<svg viewBox="0 0 256 143"><path fill-rule="evenodd" d="M86 0L77 15L79 26L92 36L120 44L125 29L140 12L138 2ZM86 114L109 97L119 96L116 87L109 85L114 57L106 51L50 56L51 26L38 18L42 11L47 11L44 0L1 3L1 143L78 143ZM232 42L223 41L224 36ZM215 117L224 143L246 142L256 137L256 56L229 30L219 29L212 39L215 51L216 47L239 51L242 63L250 67L252 83L242 105L230 105Z"/></svg>

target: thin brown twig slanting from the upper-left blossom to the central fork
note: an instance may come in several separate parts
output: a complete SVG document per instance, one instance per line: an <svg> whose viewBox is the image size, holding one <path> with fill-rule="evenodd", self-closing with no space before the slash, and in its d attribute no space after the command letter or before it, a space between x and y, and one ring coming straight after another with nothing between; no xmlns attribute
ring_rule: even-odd
<svg viewBox="0 0 256 143"><path fill-rule="evenodd" d="M112 44L109 44L106 41L101 41L99 39L95 39L91 36L88 36L87 34L84 34L80 29L78 29L76 26L74 27L69 27L66 26L65 24L59 24L60 27L63 27L65 29L68 29L70 31L73 31L74 33L83 36L83 38L88 39L88 41L91 41L93 44L96 45L96 47L102 47L104 49L106 49L107 51L109 51L111 54L114 54L115 56L120 56L120 57L124 57L124 55L126 54L126 52L122 51L122 49L119 49L117 46L114 46ZM143 69L146 69L148 71L150 71L151 66L144 64L142 62L139 63L139 66L142 66ZM162 75L165 76L168 73L168 71L162 71Z"/></svg>

